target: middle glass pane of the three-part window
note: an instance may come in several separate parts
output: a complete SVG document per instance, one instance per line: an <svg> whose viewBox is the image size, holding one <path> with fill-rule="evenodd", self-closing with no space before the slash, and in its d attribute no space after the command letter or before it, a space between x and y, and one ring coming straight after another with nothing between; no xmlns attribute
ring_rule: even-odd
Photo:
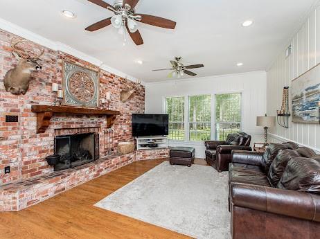
<svg viewBox="0 0 320 239"><path fill-rule="evenodd" d="M211 138L211 96L189 96L189 141Z"/></svg>

